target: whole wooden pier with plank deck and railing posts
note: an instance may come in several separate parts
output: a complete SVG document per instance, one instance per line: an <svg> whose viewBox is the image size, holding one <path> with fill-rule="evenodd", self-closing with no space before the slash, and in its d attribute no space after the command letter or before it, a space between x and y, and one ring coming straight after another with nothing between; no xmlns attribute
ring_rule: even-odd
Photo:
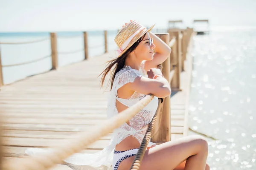
<svg viewBox="0 0 256 170"><path fill-rule="evenodd" d="M163 74L169 80L173 94L164 99L157 119L152 137L157 143L175 140L188 133L192 72L192 45L189 44L192 43L193 29L168 33L157 36L172 48L170 57L163 63ZM106 31L104 36L106 43ZM87 33L84 32L86 60L62 69L58 68L58 59L55 58L58 54L56 39L56 34L52 33L52 71L1 87L0 113L5 119L0 140L4 145L5 162L15 163L15 160L23 159L28 147L51 147L78 132L89 131L107 119L108 92L99 88L100 77L97 76L104 69L103 63L115 53L108 52L106 45L105 54L88 59ZM103 149L109 144L110 135L102 136L81 152L95 153ZM67 167L61 165L63 168Z"/></svg>

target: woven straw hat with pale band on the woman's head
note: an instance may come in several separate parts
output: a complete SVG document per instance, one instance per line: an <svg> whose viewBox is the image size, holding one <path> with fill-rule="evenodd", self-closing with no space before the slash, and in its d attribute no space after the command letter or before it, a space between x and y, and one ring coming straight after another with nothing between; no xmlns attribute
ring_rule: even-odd
<svg viewBox="0 0 256 170"><path fill-rule="evenodd" d="M118 57L125 53L137 40L140 39L146 32L151 31L155 26L152 25L148 29L142 26L137 21L131 21L127 25L123 26L122 29L116 34L114 41L118 46Z"/></svg>

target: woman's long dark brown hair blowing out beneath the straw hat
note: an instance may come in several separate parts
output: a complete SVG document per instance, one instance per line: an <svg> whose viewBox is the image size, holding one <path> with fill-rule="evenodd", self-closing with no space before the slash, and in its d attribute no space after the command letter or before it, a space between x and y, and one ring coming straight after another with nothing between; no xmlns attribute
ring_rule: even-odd
<svg viewBox="0 0 256 170"><path fill-rule="evenodd" d="M140 37L139 40L137 40L136 42L134 42L133 45L131 45L131 47L125 51L124 54L122 54L120 57L117 57L116 59L112 59L112 60L109 60L107 63L107 68L105 68L104 71L102 71L102 73L100 75L102 75L102 78L100 80L100 83L101 83L101 87L103 87L103 83L105 81L105 78L107 76L107 74L109 72L113 72L113 74L111 74L111 77L108 81L108 85L111 81L111 89L113 87L113 82L114 82L114 79L115 79L115 76L116 76L116 73L118 71L120 71L124 66L125 66L125 59L126 57L132 52L135 50L135 48L139 45L139 43L143 40L143 38L145 37L146 34L144 34L142 37ZM113 68L114 67L114 68ZM113 68L113 71L111 71L111 69ZM99 76L100 76L99 75ZM107 87L108 87L107 85Z"/></svg>

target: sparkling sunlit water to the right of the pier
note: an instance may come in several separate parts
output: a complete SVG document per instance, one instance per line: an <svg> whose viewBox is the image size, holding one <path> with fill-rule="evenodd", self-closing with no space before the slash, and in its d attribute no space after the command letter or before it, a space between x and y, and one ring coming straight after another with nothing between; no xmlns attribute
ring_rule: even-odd
<svg viewBox="0 0 256 170"><path fill-rule="evenodd" d="M195 36L192 55L189 127L217 139L211 170L256 170L256 29Z"/></svg>

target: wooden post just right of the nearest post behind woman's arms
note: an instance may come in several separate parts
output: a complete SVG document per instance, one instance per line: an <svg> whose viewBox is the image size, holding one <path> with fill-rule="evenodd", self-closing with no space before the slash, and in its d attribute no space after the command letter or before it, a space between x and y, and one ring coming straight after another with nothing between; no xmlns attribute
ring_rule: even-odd
<svg viewBox="0 0 256 170"><path fill-rule="evenodd" d="M174 36L176 37L176 65L175 65L175 72L173 75L173 79L171 82L172 91L181 91L180 90L180 72L181 72L181 40L180 40L180 31L173 32Z"/></svg>

